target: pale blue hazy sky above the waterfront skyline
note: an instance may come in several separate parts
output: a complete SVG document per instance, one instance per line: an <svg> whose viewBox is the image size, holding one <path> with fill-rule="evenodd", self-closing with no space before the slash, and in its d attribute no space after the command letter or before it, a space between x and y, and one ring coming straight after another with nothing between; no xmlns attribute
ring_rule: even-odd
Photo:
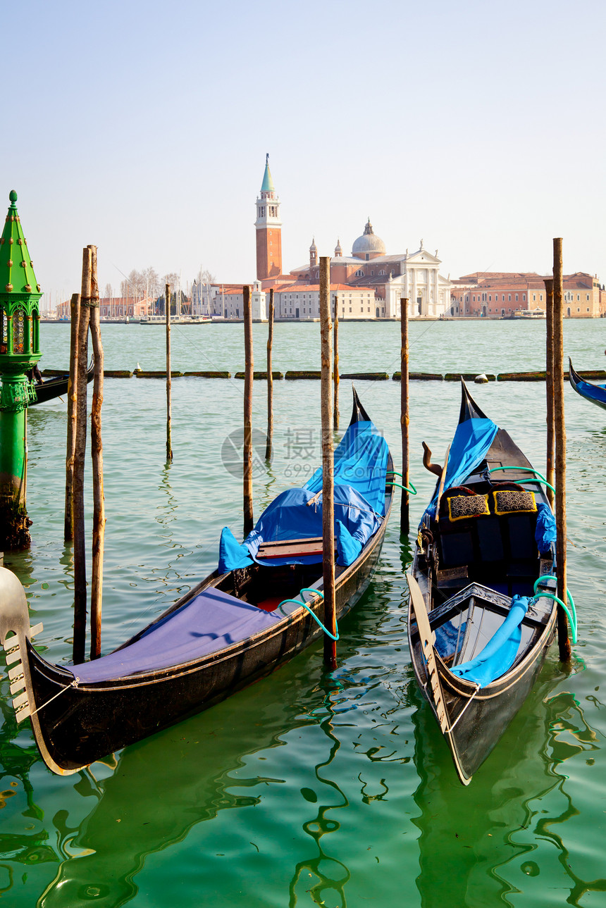
<svg viewBox="0 0 606 908"><path fill-rule="evenodd" d="M3 5L0 202L52 305L88 243L102 290L253 281L265 153L284 272L370 217L444 276L549 273L561 236L604 282L605 26L601 0Z"/></svg>

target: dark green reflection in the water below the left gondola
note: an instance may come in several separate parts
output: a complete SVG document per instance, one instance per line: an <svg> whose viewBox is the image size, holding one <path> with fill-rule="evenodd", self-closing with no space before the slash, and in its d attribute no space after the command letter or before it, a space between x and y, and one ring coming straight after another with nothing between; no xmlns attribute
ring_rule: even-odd
<svg viewBox="0 0 606 908"><path fill-rule="evenodd" d="M124 749L114 774L96 787L98 802L75 834L64 820L60 832L72 853L81 856L62 862L38 908L78 908L89 902L119 908L130 902L138 892L135 876L150 854L182 841L195 824L220 811L259 802L242 787L233 794L230 773L244 757L280 745L278 735L313 721L295 715L292 704L268 704L256 721L245 723L229 704L218 709L224 728L217 728L216 711L211 711ZM245 789L272 781L237 784ZM83 774L79 785L94 793L90 777Z"/></svg>

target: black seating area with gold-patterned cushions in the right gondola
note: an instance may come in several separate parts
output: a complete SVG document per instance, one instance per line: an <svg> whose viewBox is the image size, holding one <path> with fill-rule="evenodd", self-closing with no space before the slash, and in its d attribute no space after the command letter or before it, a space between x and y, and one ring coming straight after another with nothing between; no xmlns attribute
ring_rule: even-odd
<svg viewBox="0 0 606 908"><path fill-rule="evenodd" d="M447 489L431 525L438 602L473 581L504 596L531 596L541 573L536 522L534 493L516 483L481 480Z"/></svg>

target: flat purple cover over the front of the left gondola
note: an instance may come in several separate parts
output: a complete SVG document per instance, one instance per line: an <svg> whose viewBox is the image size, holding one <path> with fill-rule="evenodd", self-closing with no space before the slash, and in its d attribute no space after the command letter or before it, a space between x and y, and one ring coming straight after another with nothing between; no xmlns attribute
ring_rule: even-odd
<svg viewBox="0 0 606 908"><path fill-rule="evenodd" d="M130 646L70 666L70 671L85 684L180 666L267 630L281 618L280 612L265 612L211 587L164 617Z"/></svg>

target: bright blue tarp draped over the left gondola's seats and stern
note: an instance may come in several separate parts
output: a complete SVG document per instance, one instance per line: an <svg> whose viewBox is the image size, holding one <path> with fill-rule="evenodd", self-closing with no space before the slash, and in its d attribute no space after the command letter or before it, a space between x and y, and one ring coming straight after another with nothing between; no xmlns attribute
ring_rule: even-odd
<svg viewBox="0 0 606 908"><path fill-rule="evenodd" d="M353 564L364 544L380 528L385 514L387 442L370 420L349 426L334 452L334 538L337 563ZM316 498L320 492L320 497ZM312 499L313 503L308 504ZM264 565L314 564L317 555L257 558L264 542L322 536L322 469L303 489L286 489L274 498L240 545L224 527L219 544L219 573Z"/></svg>

